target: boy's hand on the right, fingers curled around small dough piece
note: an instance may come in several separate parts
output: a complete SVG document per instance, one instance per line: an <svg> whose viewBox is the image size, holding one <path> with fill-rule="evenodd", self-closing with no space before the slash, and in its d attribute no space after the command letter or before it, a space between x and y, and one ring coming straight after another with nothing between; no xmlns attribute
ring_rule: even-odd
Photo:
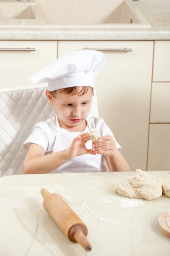
<svg viewBox="0 0 170 256"><path fill-rule="evenodd" d="M100 137L99 142L94 143L93 142L93 151L96 154L104 154L107 155L108 157L115 156L117 154L117 148L116 148L116 143L113 137L110 135L105 135Z"/></svg>

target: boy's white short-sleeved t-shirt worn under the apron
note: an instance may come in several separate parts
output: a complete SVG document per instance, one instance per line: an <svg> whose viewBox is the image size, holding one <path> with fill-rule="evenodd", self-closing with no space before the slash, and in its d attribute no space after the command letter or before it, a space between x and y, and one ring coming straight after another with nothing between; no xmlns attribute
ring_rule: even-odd
<svg viewBox="0 0 170 256"><path fill-rule="evenodd" d="M28 151L30 143L35 143L42 146L42 148L44 148L45 155L53 153L54 144L55 144L58 132L70 133L70 131L67 131L64 128L61 128L59 127L59 125L57 125L56 118L54 116L51 119L47 119L46 121L37 123L34 126L34 130L31 133L31 135L24 142L23 148ZM88 124L83 132L90 132L91 128L97 128L101 134L101 137L104 135L112 136L115 140L116 148L118 148L119 150L122 149L119 143L117 143L115 137L113 136L111 129L108 127L108 125L106 125L105 121L102 118L89 116L87 117L86 120ZM102 166L101 172L105 172L106 168L105 168L104 155L101 155L101 166Z"/></svg>

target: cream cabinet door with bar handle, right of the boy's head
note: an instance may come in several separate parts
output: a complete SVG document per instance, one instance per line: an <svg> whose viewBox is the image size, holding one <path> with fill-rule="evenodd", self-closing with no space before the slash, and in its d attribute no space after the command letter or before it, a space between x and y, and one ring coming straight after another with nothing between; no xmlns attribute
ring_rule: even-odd
<svg viewBox="0 0 170 256"><path fill-rule="evenodd" d="M58 56L82 48L104 51L107 59L96 76L99 116L105 119L131 171L147 168L147 143L153 41L59 41Z"/></svg>

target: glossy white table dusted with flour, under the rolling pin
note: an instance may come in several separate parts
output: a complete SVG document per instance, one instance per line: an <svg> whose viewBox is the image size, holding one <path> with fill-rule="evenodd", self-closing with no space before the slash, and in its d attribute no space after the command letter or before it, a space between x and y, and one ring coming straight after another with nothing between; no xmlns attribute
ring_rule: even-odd
<svg viewBox="0 0 170 256"><path fill-rule="evenodd" d="M150 172L160 180L168 172ZM123 198L116 183L133 173L16 175L0 179L0 256L169 256L157 227L170 198ZM71 243L42 207L41 188L59 193L88 227L92 251Z"/></svg>

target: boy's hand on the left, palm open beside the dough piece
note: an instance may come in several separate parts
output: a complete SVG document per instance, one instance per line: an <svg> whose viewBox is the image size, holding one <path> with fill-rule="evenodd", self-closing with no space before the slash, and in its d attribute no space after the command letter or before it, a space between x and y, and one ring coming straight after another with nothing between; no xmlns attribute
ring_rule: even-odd
<svg viewBox="0 0 170 256"><path fill-rule="evenodd" d="M78 137L75 137L69 148L66 149L69 157L82 156L83 154L95 155L96 153L92 149L87 149L85 146L88 140L90 140L90 133L82 133Z"/></svg>

